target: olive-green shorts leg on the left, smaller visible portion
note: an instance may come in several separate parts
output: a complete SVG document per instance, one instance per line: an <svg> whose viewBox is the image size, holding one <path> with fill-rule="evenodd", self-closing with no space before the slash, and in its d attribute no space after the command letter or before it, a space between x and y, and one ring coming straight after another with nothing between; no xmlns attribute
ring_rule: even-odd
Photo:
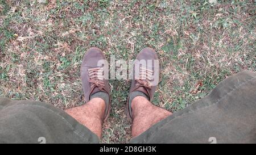
<svg viewBox="0 0 256 155"><path fill-rule="evenodd" d="M63 110L32 100L0 98L0 143L98 143Z"/></svg>

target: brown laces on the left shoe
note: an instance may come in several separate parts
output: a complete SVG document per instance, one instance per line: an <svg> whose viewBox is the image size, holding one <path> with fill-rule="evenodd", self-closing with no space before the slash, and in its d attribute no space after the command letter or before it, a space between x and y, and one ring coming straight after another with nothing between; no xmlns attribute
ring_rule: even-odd
<svg viewBox="0 0 256 155"><path fill-rule="evenodd" d="M94 87L98 87L100 90L105 87L104 84L104 70L102 67L90 68L88 69L89 73L89 82L91 83L90 87L93 89Z"/></svg>

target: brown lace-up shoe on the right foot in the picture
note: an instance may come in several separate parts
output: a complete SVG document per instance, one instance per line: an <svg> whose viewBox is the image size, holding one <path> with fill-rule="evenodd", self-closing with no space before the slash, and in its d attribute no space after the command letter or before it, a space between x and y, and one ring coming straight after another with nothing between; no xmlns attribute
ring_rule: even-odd
<svg viewBox="0 0 256 155"><path fill-rule="evenodd" d="M150 63L151 62L151 63ZM148 100L152 101L156 86L159 82L159 61L152 48L144 48L139 52L133 66L133 79L127 100L127 115L132 118L131 102L129 98L134 91L141 91Z"/></svg>

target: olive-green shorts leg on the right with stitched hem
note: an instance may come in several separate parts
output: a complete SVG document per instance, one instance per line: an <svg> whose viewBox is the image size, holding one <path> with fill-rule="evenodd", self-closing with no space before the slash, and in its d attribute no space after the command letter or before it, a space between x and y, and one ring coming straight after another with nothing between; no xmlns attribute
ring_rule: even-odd
<svg viewBox="0 0 256 155"><path fill-rule="evenodd" d="M130 143L256 143L256 74L241 72Z"/></svg>

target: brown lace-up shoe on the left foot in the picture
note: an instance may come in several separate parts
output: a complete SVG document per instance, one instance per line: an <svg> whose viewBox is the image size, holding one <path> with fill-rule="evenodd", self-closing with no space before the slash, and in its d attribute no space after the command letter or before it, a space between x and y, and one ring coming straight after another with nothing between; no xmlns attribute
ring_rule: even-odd
<svg viewBox="0 0 256 155"><path fill-rule="evenodd" d="M106 104L105 120L110 112L110 94L108 81L108 61L101 49L96 47L88 49L81 65L82 89L84 90L85 102L89 102L90 95L103 91L109 95L109 103Z"/></svg>

